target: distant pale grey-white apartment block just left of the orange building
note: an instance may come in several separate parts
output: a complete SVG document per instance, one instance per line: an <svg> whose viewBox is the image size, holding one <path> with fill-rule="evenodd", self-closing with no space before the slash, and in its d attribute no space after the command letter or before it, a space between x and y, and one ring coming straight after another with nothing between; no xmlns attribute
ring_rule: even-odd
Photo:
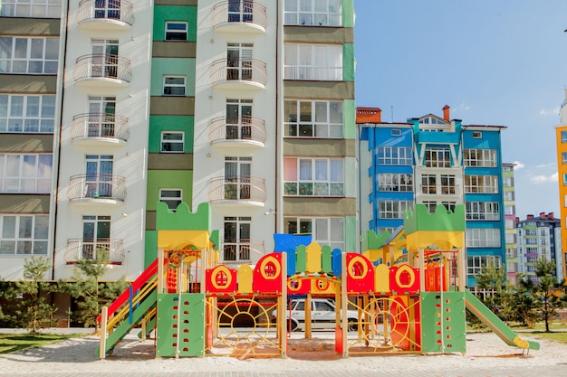
<svg viewBox="0 0 567 377"><path fill-rule="evenodd" d="M563 277L561 231L561 220L555 218L553 212L547 214L541 212L538 217L529 214L525 220L518 219L517 272L537 284L539 278L535 275L535 261L542 258L553 260L554 276L561 281Z"/></svg>

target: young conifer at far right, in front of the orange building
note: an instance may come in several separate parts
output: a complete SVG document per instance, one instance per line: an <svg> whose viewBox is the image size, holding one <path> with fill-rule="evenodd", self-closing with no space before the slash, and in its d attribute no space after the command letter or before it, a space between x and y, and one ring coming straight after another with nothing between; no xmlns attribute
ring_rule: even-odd
<svg viewBox="0 0 567 377"><path fill-rule="evenodd" d="M545 332L549 333L550 322L557 316L557 309L565 302L562 287L553 276L555 261L545 258L535 261L535 275L539 278L539 284L535 285L534 294L539 298L540 313L545 323Z"/></svg>

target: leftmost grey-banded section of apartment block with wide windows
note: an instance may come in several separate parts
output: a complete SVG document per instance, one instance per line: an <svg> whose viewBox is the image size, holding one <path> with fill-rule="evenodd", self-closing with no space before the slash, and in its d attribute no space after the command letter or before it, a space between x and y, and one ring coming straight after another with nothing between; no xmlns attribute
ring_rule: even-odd
<svg viewBox="0 0 567 377"><path fill-rule="evenodd" d="M62 2L0 5L0 277L53 257L64 38ZM53 278L53 271L46 274Z"/></svg>

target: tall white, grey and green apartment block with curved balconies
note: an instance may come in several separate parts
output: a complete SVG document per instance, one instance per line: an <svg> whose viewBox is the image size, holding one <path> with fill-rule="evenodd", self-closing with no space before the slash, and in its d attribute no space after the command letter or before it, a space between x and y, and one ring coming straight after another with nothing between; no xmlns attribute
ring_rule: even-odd
<svg viewBox="0 0 567 377"><path fill-rule="evenodd" d="M211 203L227 264L274 232L357 250L352 0L1 9L0 277L109 251L102 278L136 278L158 202Z"/></svg>

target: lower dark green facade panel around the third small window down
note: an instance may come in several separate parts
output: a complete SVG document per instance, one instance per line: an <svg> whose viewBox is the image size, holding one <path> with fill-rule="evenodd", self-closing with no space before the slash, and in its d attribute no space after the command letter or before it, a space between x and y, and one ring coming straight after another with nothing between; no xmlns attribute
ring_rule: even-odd
<svg viewBox="0 0 567 377"><path fill-rule="evenodd" d="M149 117L149 153L159 153L162 131L185 131L185 153L193 153L193 135L195 119L189 116L150 116Z"/></svg>

